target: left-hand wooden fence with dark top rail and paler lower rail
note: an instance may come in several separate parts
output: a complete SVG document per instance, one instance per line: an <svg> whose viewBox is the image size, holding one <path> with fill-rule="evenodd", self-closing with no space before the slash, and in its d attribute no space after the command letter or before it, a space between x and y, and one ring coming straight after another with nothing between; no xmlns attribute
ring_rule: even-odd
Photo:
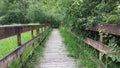
<svg viewBox="0 0 120 68"><path fill-rule="evenodd" d="M40 38L41 35L46 35L48 28L46 27L47 25L26 25L26 26L2 26L4 29L2 30L2 27L0 27L0 31L3 33L7 33L5 34L3 37L1 36L2 33L0 33L0 39L2 38L6 38L12 35L18 35L18 47L12 51L11 53L9 53L7 56L3 57L0 59L0 68L8 68L8 66L18 57L20 57L20 55L29 47L32 46L32 44L35 41L38 41L38 39ZM32 32L32 39L29 40L28 42L24 43L21 45L21 37L20 37L20 33L22 32L27 32L27 31L33 31L33 29L39 29L45 27L46 29L42 32L37 34L36 37L33 36L33 32ZM7 29L10 28L10 29ZM19 31L17 31L17 29L15 28L19 28ZM6 31L5 31L6 30ZM11 31L13 30L13 31ZM8 31L8 32L7 32ZM8 34L11 31L10 34ZM13 33L12 33L13 32Z"/></svg>

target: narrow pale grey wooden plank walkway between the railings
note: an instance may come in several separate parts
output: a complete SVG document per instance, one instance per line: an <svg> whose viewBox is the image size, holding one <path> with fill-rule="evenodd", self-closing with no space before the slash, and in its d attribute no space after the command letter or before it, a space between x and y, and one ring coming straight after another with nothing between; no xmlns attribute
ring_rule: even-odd
<svg viewBox="0 0 120 68"><path fill-rule="evenodd" d="M74 59L67 54L58 29L53 29L46 42L43 57L40 58L36 68L74 68Z"/></svg>

